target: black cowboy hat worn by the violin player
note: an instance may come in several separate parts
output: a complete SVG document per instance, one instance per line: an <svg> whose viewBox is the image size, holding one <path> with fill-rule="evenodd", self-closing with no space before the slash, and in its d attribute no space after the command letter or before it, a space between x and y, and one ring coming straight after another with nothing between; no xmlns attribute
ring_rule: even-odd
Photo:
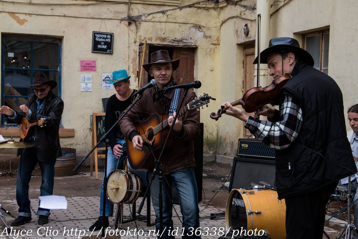
<svg viewBox="0 0 358 239"><path fill-rule="evenodd" d="M293 52L300 60L313 66L314 60L310 53L300 47L296 39L289 37L272 38L269 42L269 47L260 53L260 63L267 64L267 57L272 53ZM253 64L257 64L257 57Z"/></svg>

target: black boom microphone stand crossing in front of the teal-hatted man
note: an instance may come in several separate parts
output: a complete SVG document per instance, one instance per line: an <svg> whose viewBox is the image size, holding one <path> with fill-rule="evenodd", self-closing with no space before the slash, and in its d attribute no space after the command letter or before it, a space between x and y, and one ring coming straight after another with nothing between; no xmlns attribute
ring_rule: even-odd
<svg viewBox="0 0 358 239"><path fill-rule="evenodd" d="M95 145L95 147L93 147L93 149L91 149L91 151L89 151L89 153L86 155L86 157L84 157L83 160L79 164L77 164L77 166L72 170L72 172L76 172L77 169L82 165L82 163L88 158L88 156L98 147L98 145L103 141L106 142L105 172L104 172L104 176L103 176L102 238L105 238L106 187L107 187L107 152L108 152L108 143L109 143L109 140L106 139L106 137L107 137L107 134L109 132L111 132L111 130L114 128L114 126L116 126L119 123L119 121L127 114L127 112L137 103L137 101L142 98L143 92L138 94L138 97L127 108L127 110L121 115L121 117L117 120L117 122L115 124L113 124L112 127L105 134L103 134L103 136L100 138L100 140Z"/></svg>

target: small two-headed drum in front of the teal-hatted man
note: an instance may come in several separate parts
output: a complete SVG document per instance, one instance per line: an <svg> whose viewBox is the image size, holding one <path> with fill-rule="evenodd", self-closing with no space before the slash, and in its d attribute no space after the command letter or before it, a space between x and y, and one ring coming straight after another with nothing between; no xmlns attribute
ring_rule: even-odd
<svg viewBox="0 0 358 239"><path fill-rule="evenodd" d="M124 170L113 170L108 176L106 194L113 203L132 203L141 192L140 178Z"/></svg>

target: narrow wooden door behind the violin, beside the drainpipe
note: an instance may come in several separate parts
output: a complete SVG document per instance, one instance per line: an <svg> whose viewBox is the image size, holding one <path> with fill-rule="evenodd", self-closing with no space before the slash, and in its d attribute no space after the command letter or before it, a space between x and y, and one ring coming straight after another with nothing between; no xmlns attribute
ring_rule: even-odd
<svg viewBox="0 0 358 239"><path fill-rule="evenodd" d="M243 80L243 89L242 95L245 94L246 91L250 90L254 87L254 72L255 72L255 65L252 62L255 60L255 48L247 48L244 49L244 80ZM252 113L248 115L253 115ZM245 123L243 123L245 125ZM243 128L243 138L248 138L251 136L251 133L245 127Z"/></svg>

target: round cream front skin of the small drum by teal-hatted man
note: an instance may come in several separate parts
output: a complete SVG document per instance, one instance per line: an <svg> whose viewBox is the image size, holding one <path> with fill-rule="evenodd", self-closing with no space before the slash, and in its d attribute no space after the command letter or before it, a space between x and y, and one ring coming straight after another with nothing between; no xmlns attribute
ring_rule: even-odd
<svg viewBox="0 0 358 239"><path fill-rule="evenodd" d="M128 177L123 170L114 170L107 179L107 197L113 203L125 200L128 191Z"/></svg>

